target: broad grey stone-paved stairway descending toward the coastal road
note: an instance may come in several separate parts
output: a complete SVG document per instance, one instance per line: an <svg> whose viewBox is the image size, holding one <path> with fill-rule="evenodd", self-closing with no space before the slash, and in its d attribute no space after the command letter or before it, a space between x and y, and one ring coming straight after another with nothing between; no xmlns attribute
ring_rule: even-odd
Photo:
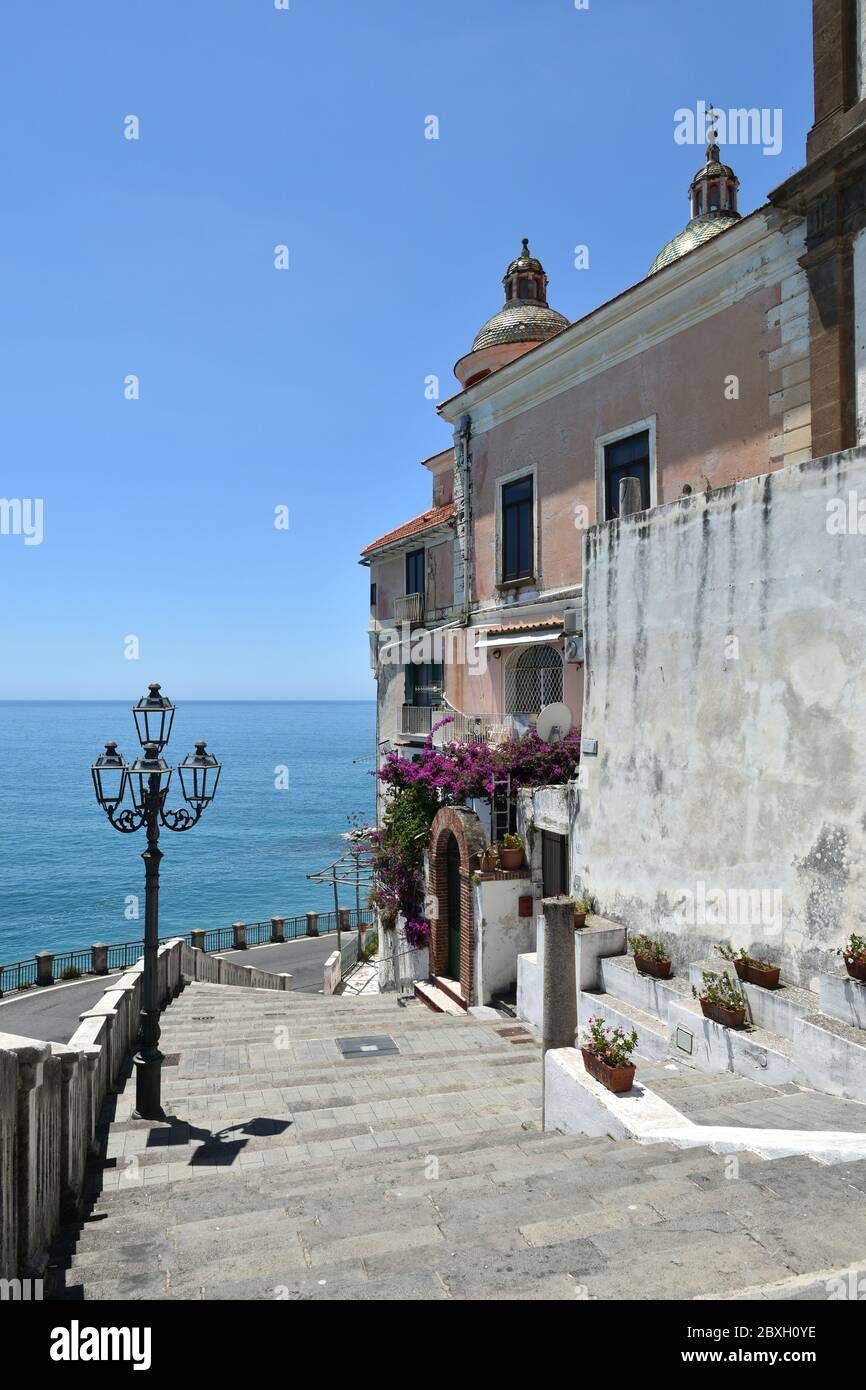
<svg viewBox="0 0 866 1390"><path fill-rule="evenodd" d="M168 1119L131 1119L131 1080L110 1098L54 1297L827 1298L866 1251L866 1162L545 1134L510 1019L197 983L163 1049ZM645 1068L694 1115L790 1098Z"/></svg>

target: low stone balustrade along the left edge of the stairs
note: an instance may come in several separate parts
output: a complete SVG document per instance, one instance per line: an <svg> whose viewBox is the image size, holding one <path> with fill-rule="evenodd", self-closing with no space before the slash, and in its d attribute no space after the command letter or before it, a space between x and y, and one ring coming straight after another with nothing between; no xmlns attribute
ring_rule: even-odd
<svg viewBox="0 0 866 1390"><path fill-rule="evenodd" d="M0 1033L0 1279L42 1277L60 1222L81 1212L103 1101L138 1037L143 969L139 960L113 980L68 1044ZM206 955L181 940L161 945L160 1008L193 980L292 988L291 974Z"/></svg>

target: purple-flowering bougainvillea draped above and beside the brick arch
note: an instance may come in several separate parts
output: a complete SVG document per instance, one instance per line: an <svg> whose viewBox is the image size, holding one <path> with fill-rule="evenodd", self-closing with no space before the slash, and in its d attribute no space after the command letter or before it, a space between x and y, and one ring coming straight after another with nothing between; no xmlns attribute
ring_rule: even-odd
<svg viewBox="0 0 866 1390"><path fill-rule="evenodd" d="M523 738L503 744L445 744L434 748L434 724L417 759L389 753L375 773L388 788L382 830L371 835L377 887L371 901L385 917L402 913L410 945L427 945L430 923L424 916L424 849L441 806L459 806L489 798L509 785L550 787L570 781L580 762L580 731L556 744L545 744L531 728ZM411 935L411 940L410 940Z"/></svg>

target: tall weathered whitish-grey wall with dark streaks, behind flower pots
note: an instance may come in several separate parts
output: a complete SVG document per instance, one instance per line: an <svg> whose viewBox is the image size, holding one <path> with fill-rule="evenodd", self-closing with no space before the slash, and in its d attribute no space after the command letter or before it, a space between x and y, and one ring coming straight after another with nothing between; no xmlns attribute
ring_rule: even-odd
<svg viewBox="0 0 866 1390"><path fill-rule="evenodd" d="M573 866L680 965L728 940L809 983L863 930L858 500L863 449L587 535Z"/></svg>

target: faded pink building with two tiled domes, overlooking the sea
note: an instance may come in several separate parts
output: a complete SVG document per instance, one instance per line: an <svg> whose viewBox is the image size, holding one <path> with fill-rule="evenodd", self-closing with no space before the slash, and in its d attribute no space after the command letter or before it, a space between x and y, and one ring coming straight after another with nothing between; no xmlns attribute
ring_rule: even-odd
<svg viewBox="0 0 866 1390"><path fill-rule="evenodd" d="M436 741L507 737L557 702L580 727L582 535L623 480L648 509L812 457L805 220L741 217L712 136L691 195L648 277L577 322L527 242L506 270L438 407L453 448L427 460L430 512L363 553L379 753L442 719ZM439 648L395 660L395 628Z"/></svg>

